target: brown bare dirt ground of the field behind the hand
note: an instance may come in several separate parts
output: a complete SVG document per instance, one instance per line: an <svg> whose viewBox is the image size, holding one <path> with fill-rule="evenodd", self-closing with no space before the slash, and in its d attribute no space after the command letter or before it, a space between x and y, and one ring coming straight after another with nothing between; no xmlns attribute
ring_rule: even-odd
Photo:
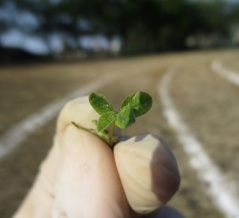
<svg viewBox="0 0 239 218"><path fill-rule="evenodd" d="M59 102L87 84L111 78L99 85L97 91L106 95L116 108L129 93L141 90L153 96L151 111L139 118L125 134L152 132L170 144L178 160L182 183L169 204L189 218L233 218L230 211L235 208L229 212L227 208L222 209L218 199L221 193L222 196L226 193L229 199L237 200L239 194L239 87L216 74L211 64L217 59L239 75L238 58L239 51L225 50L1 68L0 137L31 114L39 115L40 109L52 102ZM220 184L227 186L219 195L211 193L211 180L203 179L203 170L192 165L192 157L185 152L177 130L165 116L167 108L160 88L170 70L175 73L164 91L190 134L200 142L213 167L219 170L217 175L223 176L212 180L220 180ZM25 138L0 159L0 217L10 217L31 186L51 146L56 116L57 113L53 113L49 122L36 125L33 133L26 133Z"/></svg>

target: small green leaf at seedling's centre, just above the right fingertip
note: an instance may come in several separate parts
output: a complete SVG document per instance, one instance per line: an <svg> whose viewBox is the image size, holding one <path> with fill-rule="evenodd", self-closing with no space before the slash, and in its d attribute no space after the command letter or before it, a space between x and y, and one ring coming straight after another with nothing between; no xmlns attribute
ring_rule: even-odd
<svg viewBox="0 0 239 218"><path fill-rule="evenodd" d="M134 111L130 105L126 105L120 109L120 112L117 114L115 124L119 128L125 129L135 122Z"/></svg>

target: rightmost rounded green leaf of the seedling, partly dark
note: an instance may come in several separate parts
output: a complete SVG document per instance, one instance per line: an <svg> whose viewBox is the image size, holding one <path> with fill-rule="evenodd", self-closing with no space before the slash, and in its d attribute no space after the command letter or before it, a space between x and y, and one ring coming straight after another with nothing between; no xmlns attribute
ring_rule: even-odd
<svg viewBox="0 0 239 218"><path fill-rule="evenodd" d="M135 117L139 117L147 113L152 107L153 99L145 92L136 92L135 94L129 95L122 103L121 108L129 105L133 111Z"/></svg>

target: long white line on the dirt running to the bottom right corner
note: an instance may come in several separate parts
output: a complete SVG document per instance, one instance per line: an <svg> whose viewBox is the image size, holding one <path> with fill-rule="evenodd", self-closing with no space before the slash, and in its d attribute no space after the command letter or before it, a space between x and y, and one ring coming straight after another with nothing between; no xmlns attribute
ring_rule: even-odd
<svg viewBox="0 0 239 218"><path fill-rule="evenodd" d="M168 88L175 73L174 69L169 69L158 86L159 96L164 106L164 115L189 156L190 165L199 172L199 179L208 184L208 194L211 196L212 203L224 213L226 218L236 218L239 214L239 200L231 189L231 187L236 189L236 185L223 176L221 170L203 150L203 146L181 119L170 98Z"/></svg>

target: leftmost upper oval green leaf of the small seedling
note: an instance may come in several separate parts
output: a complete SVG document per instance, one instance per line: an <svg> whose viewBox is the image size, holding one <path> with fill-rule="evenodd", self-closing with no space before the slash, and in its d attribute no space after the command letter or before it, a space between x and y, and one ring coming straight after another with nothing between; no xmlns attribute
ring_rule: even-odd
<svg viewBox="0 0 239 218"><path fill-rule="evenodd" d="M92 92L89 96L89 101L91 106L100 115L104 115L109 112L115 113L113 106L103 95L99 93Z"/></svg>

